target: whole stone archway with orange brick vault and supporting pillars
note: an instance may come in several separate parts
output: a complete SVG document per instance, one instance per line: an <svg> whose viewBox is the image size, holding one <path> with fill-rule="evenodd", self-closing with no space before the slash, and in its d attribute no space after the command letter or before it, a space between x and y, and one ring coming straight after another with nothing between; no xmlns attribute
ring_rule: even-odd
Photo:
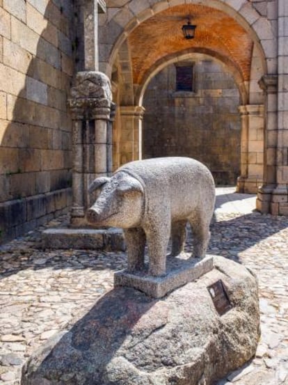
<svg viewBox="0 0 288 385"><path fill-rule="evenodd" d="M256 192L262 212L287 212L287 76L285 0L107 0L99 17L99 70L113 79L118 116L114 166L141 156L145 86L170 55L198 52L220 58L241 86L241 172L238 191ZM187 17L197 25L185 40ZM207 52L208 50L208 52ZM234 77L235 78L235 77ZM236 78L235 78L236 81ZM279 81L279 83L278 83ZM129 101L123 98L132 91ZM274 196L275 195L275 196Z"/></svg>

